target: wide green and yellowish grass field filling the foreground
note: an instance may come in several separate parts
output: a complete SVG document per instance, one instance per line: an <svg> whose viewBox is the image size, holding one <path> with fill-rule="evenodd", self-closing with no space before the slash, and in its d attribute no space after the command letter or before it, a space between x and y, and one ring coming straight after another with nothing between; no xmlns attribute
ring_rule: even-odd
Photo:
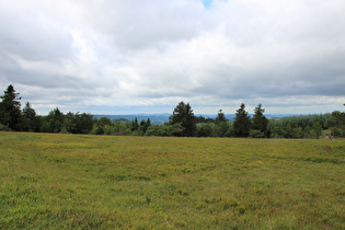
<svg viewBox="0 0 345 230"><path fill-rule="evenodd" d="M345 140L0 133L0 229L345 229Z"/></svg>

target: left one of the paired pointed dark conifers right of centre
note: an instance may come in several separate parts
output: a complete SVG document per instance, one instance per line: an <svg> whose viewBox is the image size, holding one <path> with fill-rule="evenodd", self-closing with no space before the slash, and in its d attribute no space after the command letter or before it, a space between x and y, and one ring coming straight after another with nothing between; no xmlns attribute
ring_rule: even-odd
<svg viewBox="0 0 345 230"><path fill-rule="evenodd" d="M233 120L233 131L235 137L248 137L251 129L251 117L245 111L244 103L237 110L235 118Z"/></svg>

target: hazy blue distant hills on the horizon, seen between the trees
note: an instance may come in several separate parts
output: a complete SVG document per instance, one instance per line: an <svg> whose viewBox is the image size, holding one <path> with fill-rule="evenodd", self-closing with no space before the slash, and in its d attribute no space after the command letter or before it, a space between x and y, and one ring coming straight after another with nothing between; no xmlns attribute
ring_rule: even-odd
<svg viewBox="0 0 345 230"><path fill-rule="evenodd" d="M253 114L250 114L252 116ZM130 115L101 115L96 114L93 115L95 118L101 118L101 117L107 117L112 119L113 122L124 122L124 123L130 123L133 119L137 117L138 122L140 123L141 119L147 120L150 118L151 124L154 125L164 125L164 123L169 122L169 117L171 114L163 113L163 114L130 114ZM195 114L195 116L204 116L205 118L216 118L217 114ZM289 117L294 116L291 114L265 114L266 117ZM226 118L229 120L233 120L235 117L234 114L226 114Z"/></svg>

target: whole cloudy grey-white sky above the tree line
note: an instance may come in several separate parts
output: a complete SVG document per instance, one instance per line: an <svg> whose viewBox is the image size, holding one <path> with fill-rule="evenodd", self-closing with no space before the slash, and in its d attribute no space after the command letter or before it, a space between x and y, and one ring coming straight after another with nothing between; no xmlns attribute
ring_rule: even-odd
<svg viewBox="0 0 345 230"><path fill-rule="evenodd" d="M1 0L0 91L39 115L344 111L344 0Z"/></svg>

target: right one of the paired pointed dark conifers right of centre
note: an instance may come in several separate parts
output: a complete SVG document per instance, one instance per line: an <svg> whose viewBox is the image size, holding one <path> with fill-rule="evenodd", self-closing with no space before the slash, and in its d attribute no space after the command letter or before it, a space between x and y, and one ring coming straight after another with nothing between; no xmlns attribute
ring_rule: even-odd
<svg viewBox="0 0 345 230"><path fill-rule="evenodd" d="M254 110L254 116L252 118L252 130L251 136L253 137L266 137L268 119L264 116L265 108L262 104L258 104ZM255 134L255 135L254 135Z"/></svg>

